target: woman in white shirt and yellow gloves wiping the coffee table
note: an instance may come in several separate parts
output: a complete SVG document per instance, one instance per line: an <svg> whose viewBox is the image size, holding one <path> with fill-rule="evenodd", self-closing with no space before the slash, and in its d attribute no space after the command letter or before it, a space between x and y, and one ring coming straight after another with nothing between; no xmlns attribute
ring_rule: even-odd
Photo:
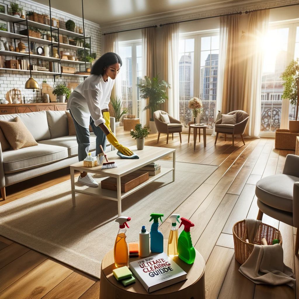
<svg viewBox="0 0 299 299"><path fill-rule="evenodd" d="M108 52L102 55L92 66L91 75L80 83L68 98L67 109L74 120L78 142L78 158L83 161L88 155L90 145L89 125L96 135L96 155L100 145L106 149L106 139L116 149L126 156L133 152L118 143L110 129L110 114L108 104L114 80L122 65L121 58L116 53ZM80 173L78 182L89 187L98 187L87 172Z"/></svg>

